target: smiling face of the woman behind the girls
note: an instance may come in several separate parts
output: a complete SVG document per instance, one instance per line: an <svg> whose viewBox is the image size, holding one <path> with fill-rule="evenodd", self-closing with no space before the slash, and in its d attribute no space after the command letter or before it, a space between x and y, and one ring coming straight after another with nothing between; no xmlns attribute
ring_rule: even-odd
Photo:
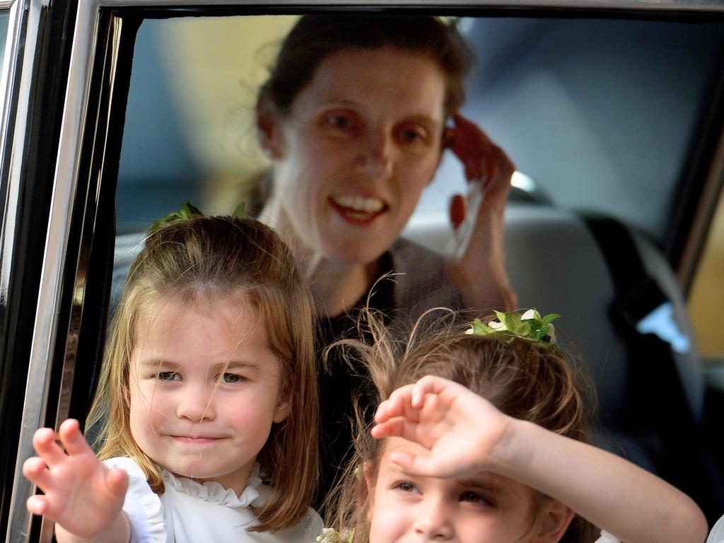
<svg viewBox="0 0 724 543"><path fill-rule="evenodd" d="M445 77L424 56L385 48L321 62L263 138L277 226L323 258L379 258L437 169L444 98Z"/></svg>

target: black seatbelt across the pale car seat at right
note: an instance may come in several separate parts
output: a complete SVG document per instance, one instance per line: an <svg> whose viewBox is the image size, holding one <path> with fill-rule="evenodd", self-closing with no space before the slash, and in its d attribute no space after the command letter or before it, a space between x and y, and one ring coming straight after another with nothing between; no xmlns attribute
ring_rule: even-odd
<svg viewBox="0 0 724 543"><path fill-rule="evenodd" d="M631 232L603 216L586 224L605 256L615 287L610 319L628 350L627 416L633 433L653 434L659 445L644 444L660 475L689 494L715 521L724 508L722 481L704 445L702 426L691 409L671 345L637 327L662 304L670 303L644 267Z"/></svg>

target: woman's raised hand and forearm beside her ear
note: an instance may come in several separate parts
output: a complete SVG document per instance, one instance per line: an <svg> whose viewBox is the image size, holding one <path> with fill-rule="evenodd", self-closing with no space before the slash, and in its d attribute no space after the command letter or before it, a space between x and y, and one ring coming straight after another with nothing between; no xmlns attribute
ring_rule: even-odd
<svg viewBox="0 0 724 543"><path fill-rule="evenodd" d="M468 195L450 201L455 249L447 274L463 294L466 306L481 310L516 306L505 273L503 216L515 166L500 147L473 122L456 114L446 146L460 159Z"/></svg>

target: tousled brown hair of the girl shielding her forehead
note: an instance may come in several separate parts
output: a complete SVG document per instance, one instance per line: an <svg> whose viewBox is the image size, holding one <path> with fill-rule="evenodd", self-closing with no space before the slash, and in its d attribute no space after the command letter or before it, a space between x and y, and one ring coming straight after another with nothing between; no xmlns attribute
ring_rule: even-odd
<svg viewBox="0 0 724 543"><path fill-rule="evenodd" d="M433 322L434 311L438 318ZM340 340L327 352L341 349L345 358L368 367L379 401L405 384L437 375L463 384L508 416L589 442L591 411L586 405L594 399L592 387L561 350L520 337L466 334L472 319L451 310L439 317L439 311L423 315L407 341L396 339L379 316L368 311L360 326L374 342ZM425 319L428 324L423 326ZM365 466L367 476L376 480L384 447L384 440L371 438L363 418L358 416L354 458L326 504L331 525L340 530L353 527L355 542L369 538L369 489L358 468ZM546 499L550 498L536 492L534 505ZM588 541L593 533L587 521L576 517L561 541Z"/></svg>

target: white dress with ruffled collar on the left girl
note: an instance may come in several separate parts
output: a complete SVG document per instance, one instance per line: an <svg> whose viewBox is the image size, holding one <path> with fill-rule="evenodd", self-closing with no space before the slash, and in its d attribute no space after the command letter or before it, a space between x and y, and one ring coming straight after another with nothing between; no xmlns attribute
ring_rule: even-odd
<svg viewBox="0 0 724 543"><path fill-rule="evenodd" d="M161 470L166 486L156 494L131 458L104 460L128 473L123 510L131 524L131 543L297 543L316 542L323 528L313 509L296 526L275 532L247 531L258 524L250 505L264 503L269 487L258 478L258 467L241 496L216 482L198 483Z"/></svg>

